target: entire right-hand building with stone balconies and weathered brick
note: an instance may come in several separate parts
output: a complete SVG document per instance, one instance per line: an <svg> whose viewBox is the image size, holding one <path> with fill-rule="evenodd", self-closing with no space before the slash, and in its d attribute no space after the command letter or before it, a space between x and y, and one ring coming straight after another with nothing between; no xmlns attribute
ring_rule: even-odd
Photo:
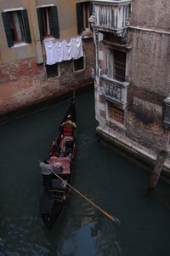
<svg viewBox="0 0 170 256"><path fill-rule="evenodd" d="M168 0L93 3L97 132L154 162L170 149Z"/></svg>

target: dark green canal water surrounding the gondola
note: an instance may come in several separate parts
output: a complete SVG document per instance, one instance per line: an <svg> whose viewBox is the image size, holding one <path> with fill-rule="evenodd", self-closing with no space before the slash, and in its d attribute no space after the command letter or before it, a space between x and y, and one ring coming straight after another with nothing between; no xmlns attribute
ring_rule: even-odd
<svg viewBox="0 0 170 256"><path fill-rule="evenodd" d="M118 218L112 223L72 192L46 230L39 213L44 160L69 101L0 126L0 256L164 256L170 253L170 187L144 198L149 176L95 137L94 91L76 97L73 185Z"/></svg>

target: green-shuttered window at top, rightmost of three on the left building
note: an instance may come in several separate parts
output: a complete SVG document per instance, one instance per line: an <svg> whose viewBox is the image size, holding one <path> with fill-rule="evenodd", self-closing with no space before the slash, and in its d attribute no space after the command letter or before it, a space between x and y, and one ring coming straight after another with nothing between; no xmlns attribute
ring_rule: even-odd
<svg viewBox="0 0 170 256"><path fill-rule="evenodd" d="M88 19L92 15L92 2L77 3L77 32L81 34L82 31L89 27Z"/></svg>

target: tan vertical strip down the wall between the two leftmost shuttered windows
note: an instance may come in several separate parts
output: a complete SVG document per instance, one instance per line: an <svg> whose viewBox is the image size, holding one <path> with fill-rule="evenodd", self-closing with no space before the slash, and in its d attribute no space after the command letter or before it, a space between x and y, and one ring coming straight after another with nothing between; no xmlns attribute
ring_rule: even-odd
<svg viewBox="0 0 170 256"><path fill-rule="evenodd" d="M33 25L33 33L34 33L34 42L36 46L36 58L37 64L43 63L43 55L42 55L42 44L40 41L40 32L37 20L37 4L36 0L30 0L30 9L31 9L31 19Z"/></svg>

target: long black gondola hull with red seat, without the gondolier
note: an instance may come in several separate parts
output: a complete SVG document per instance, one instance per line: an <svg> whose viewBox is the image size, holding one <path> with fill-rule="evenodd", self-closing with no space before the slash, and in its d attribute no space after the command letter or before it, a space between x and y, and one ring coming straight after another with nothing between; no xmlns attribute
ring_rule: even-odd
<svg viewBox="0 0 170 256"><path fill-rule="evenodd" d="M66 135L65 135L66 134ZM70 139L69 147L67 148L67 144L63 143L64 139ZM76 148L76 138L77 138L77 115L75 108L75 101L72 99L71 105L68 111L65 113L65 117L59 126L59 130L54 138L55 146L61 148L61 154L65 154L65 156L56 159L63 160L64 158L68 159L68 155L71 157L70 162L70 170L68 173L58 173L60 177L62 177L65 182L71 183L71 179L73 176L74 170L74 162L75 162L75 148ZM62 142L61 142L62 141ZM67 149L70 149L67 150ZM54 158L54 143L52 143L52 147L50 149L50 153L48 155L49 159ZM67 155L68 154L68 155ZM68 170L67 170L68 171ZM64 172L64 171L63 171ZM51 229L54 226L54 223L59 219L62 212L65 209L66 201L68 200L68 195L70 193L70 189L65 183L61 183L58 177L55 177L54 174L51 175L51 184L47 189L47 182L49 177L42 175L43 183L42 183L42 194L40 200L40 212L43 223L46 225L48 229Z"/></svg>

